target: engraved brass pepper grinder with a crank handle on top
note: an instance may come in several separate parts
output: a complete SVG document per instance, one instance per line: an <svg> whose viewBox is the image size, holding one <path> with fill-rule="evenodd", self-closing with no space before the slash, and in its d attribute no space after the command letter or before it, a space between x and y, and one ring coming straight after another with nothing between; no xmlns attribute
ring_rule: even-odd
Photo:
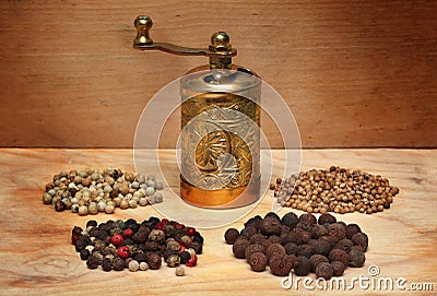
<svg viewBox="0 0 437 296"><path fill-rule="evenodd" d="M232 63L237 50L225 32L214 33L208 48L188 48L154 43L152 24L146 15L135 19L134 48L210 58L209 66L194 68L180 80L182 200L214 209L256 202L261 177L260 79Z"/></svg>

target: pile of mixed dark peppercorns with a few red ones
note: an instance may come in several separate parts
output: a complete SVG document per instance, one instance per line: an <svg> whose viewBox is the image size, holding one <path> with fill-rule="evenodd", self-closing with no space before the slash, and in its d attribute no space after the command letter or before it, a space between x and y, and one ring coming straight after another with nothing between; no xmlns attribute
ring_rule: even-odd
<svg viewBox="0 0 437 296"><path fill-rule="evenodd" d="M193 227L157 217L142 223L91 220L85 230L74 226L71 242L90 269L102 267L104 271L157 270L163 259L170 268L194 267L203 248L203 237Z"/></svg>

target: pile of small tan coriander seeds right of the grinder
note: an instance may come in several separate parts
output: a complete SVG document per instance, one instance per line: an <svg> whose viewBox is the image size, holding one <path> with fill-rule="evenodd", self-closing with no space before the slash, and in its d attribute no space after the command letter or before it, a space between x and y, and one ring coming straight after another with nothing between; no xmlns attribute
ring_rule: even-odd
<svg viewBox="0 0 437 296"><path fill-rule="evenodd" d="M399 188L387 178L358 169L331 166L310 169L271 183L277 203L308 213L371 214L390 209Z"/></svg>

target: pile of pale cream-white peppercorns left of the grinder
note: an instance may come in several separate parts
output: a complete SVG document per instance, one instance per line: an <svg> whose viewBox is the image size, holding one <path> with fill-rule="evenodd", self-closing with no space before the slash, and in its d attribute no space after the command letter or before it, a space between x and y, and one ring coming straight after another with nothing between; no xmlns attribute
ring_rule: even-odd
<svg viewBox="0 0 437 296"><path fill-rule="evenodd" d="M129 209L158 203L163 182L155 176L108 167L106 169L62 170L46 185L43 202L56 211L70 210L79 215L114 213L116 208Z"/></svg>

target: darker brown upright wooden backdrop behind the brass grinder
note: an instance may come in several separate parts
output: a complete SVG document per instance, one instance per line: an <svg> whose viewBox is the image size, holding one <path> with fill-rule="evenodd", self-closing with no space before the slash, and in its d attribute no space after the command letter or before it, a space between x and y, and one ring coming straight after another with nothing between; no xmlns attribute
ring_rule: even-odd
<svg viewBox="0 0 437 296"><path fill-rule="evenodd" d="M155 40L209 45L287 102L305 147L437 146L436 1L0 2L0 146L131 147L149 99L201 57L131 48L147 13ZM175 143L173 118L162 138ZM272 122L263 130L273 146Z"/></svg>

